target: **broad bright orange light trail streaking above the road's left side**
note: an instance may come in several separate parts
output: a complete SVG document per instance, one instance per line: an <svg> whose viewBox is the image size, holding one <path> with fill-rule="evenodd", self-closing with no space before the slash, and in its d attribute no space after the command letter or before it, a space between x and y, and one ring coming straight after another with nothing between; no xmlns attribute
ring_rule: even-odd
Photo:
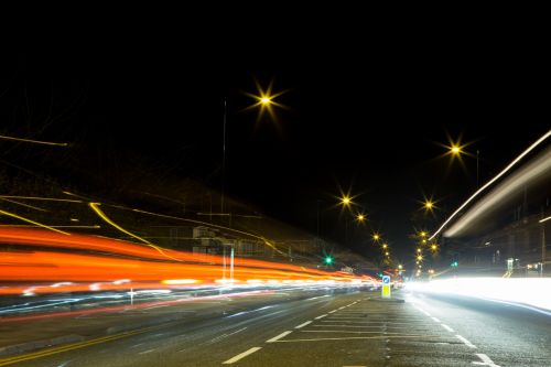
<svg viewBox="0 0 551 367"><path fill-rule="evenodd" d="M63 236L45 230L22 228L0 228L0 244L2 242L24 246L22 247L24 251L12 249L2 252L0 281L25 282L25 285L18 283L14 287L0 288L0 294L21 294L25 290L32 293L54 293L128 290L130 287L171 289L197 284L217 285L223 278L220 265L224 259L220 256L164 249L166 255L175 259L171 261L155 249L141 245L84 235ZM30 246L36 249L30 251ZM89 253L90 251L95 253ZM120 283L120 279L128 279L129 282ZM171 283L171 280L186 281L180 283L172 281ZM287 281L350 282L371 279L285 263L236 258L234 279L227 281L247 284L250 280L269 284ZM43 285L46 282L71 282L72 284Z"/></svg>

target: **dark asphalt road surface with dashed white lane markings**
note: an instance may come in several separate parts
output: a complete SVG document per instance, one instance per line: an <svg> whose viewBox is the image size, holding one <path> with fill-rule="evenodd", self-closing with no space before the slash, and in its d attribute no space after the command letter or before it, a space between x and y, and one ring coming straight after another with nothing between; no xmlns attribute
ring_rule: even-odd
<svg viewBox="0 0 551 367"><path fill-rule="evenodd" d="M551 366L551 316L398 292L296 292L219 302L230 312L114 334L0 366Z"/></svg>

